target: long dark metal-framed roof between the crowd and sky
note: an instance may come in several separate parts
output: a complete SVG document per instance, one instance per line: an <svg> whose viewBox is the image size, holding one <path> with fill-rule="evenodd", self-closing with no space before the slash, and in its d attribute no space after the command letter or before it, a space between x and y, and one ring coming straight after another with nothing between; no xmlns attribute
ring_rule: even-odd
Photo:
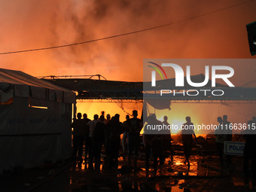
<svg viewBox="0 0 256 192"><path fill-rule="evenodd" d="M203 82L205 76L193 75L191 81ZM156 99L160 96L160 90L164 85L168 84L173 90L224 90L223 96L183 96L181 93L173 95L166 94L162 99L169 100L230 100L230 101L255 101L256 87L228 87L224 84L216 84L212 87L212 81L203 87L191 87L185 83L184 87L175 87L175 78L157 81L156 87L151 87L151 82L128 82L128 81L107 81L107 80L93 80L88 78L54 78L44 79L59 87L64 87L77 93L77 99ZM184 81L186 82L186 81ZM190 93L192 93L191 91ZM157 95L158 94L158 95ZM144 97L143 97L144 96Z"/></svg>

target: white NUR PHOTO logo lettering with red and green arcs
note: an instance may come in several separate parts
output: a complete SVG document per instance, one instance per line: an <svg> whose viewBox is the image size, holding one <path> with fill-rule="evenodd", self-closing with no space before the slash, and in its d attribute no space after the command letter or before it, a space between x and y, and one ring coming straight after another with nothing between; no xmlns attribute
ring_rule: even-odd
<svg viewBox="0 0 256 192"><path fill-rule="evenodd" d="M173 89L173 84L169 84L169 81L166 81L161 84L160 96L167 96L167 94L172 94L172 96L223 96L224 90L218 89L214 90L216 87L216 80L220 79L227 84L228 87L235 87L233 83L230 81L230 78L234 75L234 69L230 66L204 66L204 79L197 82L193 81L191 78L190 66L185 66L182 69L181 66L175 63L166 63L163 62L161 65L156 62L147 62L151 67L151 87L157 87L157 73L160 75L162 80L168 80L166 72L169 70L175 72L175 89ZM202 75L203 77L203 75ZM211 80L210 80L211 79ZM212 83L209 84L209 81ZM190 87L195 87L193 90L181 90L184 85L188 84ZM164 84L164 85L163 85ZM223 85L226 86L226 85ZM199 87L207 87L209 89L199 89ZM172 89L169 89L172 88Z"/></svg>

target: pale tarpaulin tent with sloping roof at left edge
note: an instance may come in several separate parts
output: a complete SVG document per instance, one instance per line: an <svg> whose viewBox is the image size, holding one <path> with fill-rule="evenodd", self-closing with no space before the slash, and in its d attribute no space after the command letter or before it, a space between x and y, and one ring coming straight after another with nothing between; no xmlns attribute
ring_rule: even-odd
<svg viewBox="0 0 256 192"><path fill-rule="evenodd" d="M49 82L0 69L0 174L71 157L75 93Z"/></svg>

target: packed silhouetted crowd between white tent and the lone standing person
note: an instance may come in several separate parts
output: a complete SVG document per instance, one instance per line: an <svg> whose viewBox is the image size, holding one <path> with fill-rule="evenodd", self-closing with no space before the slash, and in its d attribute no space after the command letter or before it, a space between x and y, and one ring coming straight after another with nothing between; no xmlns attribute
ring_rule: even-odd
<svg viewBox="0 0 256 192"><path fill-rule="evenodd" d="M150 157L154 157L154 169L157 169L157 163L164 163L165 151L172 151L170 131L167 134L147 134L144 133L144 139L140 136L142 130L142 120L138 118L138 111L133 111L133 117L126 115L126 120L120 122L120 115L115 114L111 117L102 111L101 116L93 116L93 120L87 118L84 114L77 114L77 118L72 123L73 128L73 159L82 162L83 147L85 146L85 163L88 163L89 169L100 169L102 149L105 150L104 166L105 169L117 169L120 147L123 149L123 159L128 157L128 169L139 170L137 165L139 149L142 148L142 142L145 147L146 169L149 169ZM158 122L155 114L151 114L146 120L148 123ZM159 121L160 122L160 121ZM160 122L161 123L161 122ZM163 123L167 122L164 117ZM123 134L122 142L120 135ZM120 146L122 144L122 146ZM172 152L170 153L172 157ZM87 158L88 157L88 158ZM94 166L93 166L94 162Z"/></svg>

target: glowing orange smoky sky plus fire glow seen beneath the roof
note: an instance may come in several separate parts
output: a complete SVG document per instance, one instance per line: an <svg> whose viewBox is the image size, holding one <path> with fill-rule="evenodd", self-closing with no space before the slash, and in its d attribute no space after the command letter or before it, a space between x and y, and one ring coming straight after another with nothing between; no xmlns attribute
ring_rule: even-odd
<svg viewBox="0 0 256 192"><path fill-rule="evenodd" d="M245 28L246 24L255 21L255 1L0 2L0 53L72 44L175 23L147 32L73 47L0 55L1 68L20 70L35 77L100 74L113 81L142 81L142 63L145 58L255 58L249 52ZM237 5L242 2L246 3ZM237 6L230 7L232 5ZM227 7L230 8L218 11ZM211 12L214 13L208 14ZM197 17L203 14L206 15ZM187 20L193 17L197 18ZM178 22L181 20L184 21ZM255 72L255 67L251 72ZM250 80L251 76L245 81ZM78 104L78 111L87 111L90 118L102 110L114 115L117 108L116 104ZM131 113L133 108L137 106L125 109ZM192 120L211 119L208 122L212 122L217 115L207 113L197 117L200 111L207 111L209 105L191 104L184 107L184 104L174 104L169 119L175 114L178 115L175 117L177 120L184 121L187 108L191 108L191 113L194 111ZM227 106L214 105L212 108L218 108L220 115L223 115L222 111L230 115L231 111L242 111L239 115L243 120L255 112L254 109L246 111L239 106L235 109L228 107L227 110ZM230 117L235 120L238 114L233 113ZM120 111L120 114L121 120L124 120L125 113Z"/></svg>

